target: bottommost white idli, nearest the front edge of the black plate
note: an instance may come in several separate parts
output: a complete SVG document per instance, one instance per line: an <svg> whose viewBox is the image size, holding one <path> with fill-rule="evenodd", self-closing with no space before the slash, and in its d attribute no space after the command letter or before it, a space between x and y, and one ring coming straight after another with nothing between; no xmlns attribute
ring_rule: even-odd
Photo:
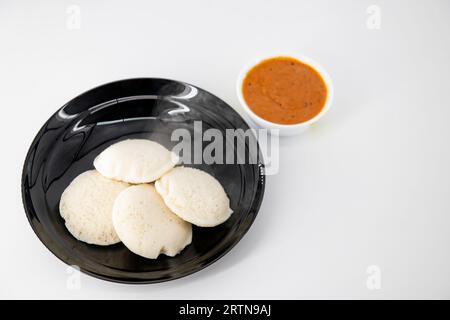
<svg viewBox="0 0 450 320"><path fill-rule="evenodd" d="M113 224L128 249L149 259L161 253L173 257L192 241L192 225L173 214L149 184L131 186L117 197Z"/></svg>

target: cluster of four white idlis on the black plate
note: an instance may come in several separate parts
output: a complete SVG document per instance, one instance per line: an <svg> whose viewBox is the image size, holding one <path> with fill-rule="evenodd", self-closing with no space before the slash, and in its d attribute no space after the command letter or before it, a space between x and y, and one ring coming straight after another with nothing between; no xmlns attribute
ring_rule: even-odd
<svg viewBox="0 0 450 320"><path fill-rule="evenodd" d="M195 168L174 168L176 161L150 140L111 145L94 160L97 170L80 174L63 192L59 209L67 229L89 244L122 241L149 259L177 255L192 241L191 223L214 227L233 211L216 178ZM157 178L154 184L139 183Z"/></svg>

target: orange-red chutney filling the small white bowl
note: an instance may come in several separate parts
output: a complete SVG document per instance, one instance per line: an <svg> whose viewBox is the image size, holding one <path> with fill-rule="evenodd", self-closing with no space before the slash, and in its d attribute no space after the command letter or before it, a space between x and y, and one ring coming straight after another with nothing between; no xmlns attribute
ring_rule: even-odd
<svg viewBox="0 0 450 320"><path fill-rule="evenodd" d="M318 115L327 100L327 86L310 65L291 57L263 60L242 82L248 107L260 118L278 124L298 124Z"/></svg>

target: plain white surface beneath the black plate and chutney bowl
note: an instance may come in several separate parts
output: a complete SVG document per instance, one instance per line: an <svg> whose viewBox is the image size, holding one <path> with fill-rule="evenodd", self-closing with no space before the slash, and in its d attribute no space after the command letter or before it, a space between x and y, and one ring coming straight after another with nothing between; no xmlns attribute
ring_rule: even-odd
<svg viewBox="0 0 450 320"><path fill-rule="evenodd" d="M2 1L1 298L450 298L450 2ZM66 8L81 8L81 29ZM366 27L369 5L381 29ZM330 112L283 138L253 227L232 252L173 282L81 277L22 209L26 151L47 118L112 80L184 80L238 108L236 78L264 51L331 74ZM366 270L381 270L369 290Z"/></svg>

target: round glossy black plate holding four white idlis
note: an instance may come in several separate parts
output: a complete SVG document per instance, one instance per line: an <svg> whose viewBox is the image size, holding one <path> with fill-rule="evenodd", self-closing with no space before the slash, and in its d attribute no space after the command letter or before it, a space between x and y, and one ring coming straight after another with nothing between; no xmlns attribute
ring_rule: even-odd
<svg viewBox="0 0 450 320"><path fill-rule="evenodd" d="M165 79L122 80L94 88L58 110L30 146L22 174L22 197L28 220L44 245L69 265L95 277L124 283L153 283L180 278L213 263L247 232L264 193L264 165L254 136L224 139L245 147L254 164L192 165L214 175L231 200L233 215L214 228L193 230L192 244L179 255L149 260L123 244L96 246L77 241L59 215L59 199L80 173L93 169L94 158L126 138L149 138L171 149L176 128L193 134L194 121L203 130L249 129L225 102L195 86ZM225 143L226 141L226 143ZM209 142L202 143L202 149ZM194 148L193 148L194 149ZM199 150L199 149L197 149ZM235 148L235 151L238 150ZM195 153L195 150L192 150ZM255 153L255 152L253 152ZM248 160L248 159L247 159ZM248 161L247 161L248 162Z"/></svg>

